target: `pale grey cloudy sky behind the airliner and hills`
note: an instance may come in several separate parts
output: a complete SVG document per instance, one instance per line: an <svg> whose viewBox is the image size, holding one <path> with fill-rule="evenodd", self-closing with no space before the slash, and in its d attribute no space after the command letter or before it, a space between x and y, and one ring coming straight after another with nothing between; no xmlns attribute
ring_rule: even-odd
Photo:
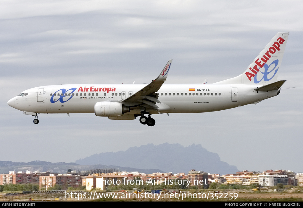
<svg viewBox="0 0 303 208"><path fill-rule="evenodd" d="M0 4L0 161L75 162L168 142L201 144L239 170L303 172L302 1ZM37 86L150 83L169 59L166 83L215 83L242 73L277 32L290 32L278 77L290 89L257 105L154 115L154 127L94 114L40 114L35 125L7 105Z"/></svg>

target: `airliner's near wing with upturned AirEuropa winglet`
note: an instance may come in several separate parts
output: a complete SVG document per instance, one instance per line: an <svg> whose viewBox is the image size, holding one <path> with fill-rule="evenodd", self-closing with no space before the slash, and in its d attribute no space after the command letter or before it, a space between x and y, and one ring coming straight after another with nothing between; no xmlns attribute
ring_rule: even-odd
<svg viewBox="0 0 303 208"><path fill-rule="evenodd" d="M150 84L146 85L132 96L129 96L120 102L126 106L141 105L151 109L158 109L158 106L156 106L155 103L161 102L158 100L157 92L167 78L168 71L171 67L171 62L172 59L167 62L160 75L155 80L152 80Z"/></svg>

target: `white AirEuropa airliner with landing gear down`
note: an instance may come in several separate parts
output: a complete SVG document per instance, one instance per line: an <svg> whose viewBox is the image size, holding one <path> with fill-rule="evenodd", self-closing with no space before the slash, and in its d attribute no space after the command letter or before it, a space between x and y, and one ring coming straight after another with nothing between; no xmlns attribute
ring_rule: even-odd
<svg viewBox="0 0 303 208"><path fill-rule="evenodd" d="M234 78L206 84L163 84L171 67L165 65L150 84L70 84L27 89L10 99L9 106L25 115L38 113L95 113L114 120L155 125L151 114L201 113L256 104L280 93L286 80L277 81L288 32L279 32ZM146 117L145 115L148 115Z"/></svg>

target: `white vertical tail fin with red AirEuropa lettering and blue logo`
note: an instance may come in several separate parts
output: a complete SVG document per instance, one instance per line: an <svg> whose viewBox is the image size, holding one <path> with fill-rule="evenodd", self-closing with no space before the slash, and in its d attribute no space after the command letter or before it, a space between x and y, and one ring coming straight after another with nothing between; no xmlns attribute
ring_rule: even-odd
<svg viewBox="0 0 303 208"><path fill-rule="evenodd" d="M276 82L288 34L277 33L242 74L217 83L266 85Z"/></svg>

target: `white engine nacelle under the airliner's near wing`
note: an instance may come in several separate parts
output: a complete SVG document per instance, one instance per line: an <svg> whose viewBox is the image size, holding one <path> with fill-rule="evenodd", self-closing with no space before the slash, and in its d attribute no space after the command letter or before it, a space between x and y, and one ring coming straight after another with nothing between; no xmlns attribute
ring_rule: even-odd
<svg viewBox="0 0 303 208"><path fill-rule="evenodd" d="M96 102L95 115L96 116L119 116L130 111L130 108L124 106L121 102Z"/></svg>

